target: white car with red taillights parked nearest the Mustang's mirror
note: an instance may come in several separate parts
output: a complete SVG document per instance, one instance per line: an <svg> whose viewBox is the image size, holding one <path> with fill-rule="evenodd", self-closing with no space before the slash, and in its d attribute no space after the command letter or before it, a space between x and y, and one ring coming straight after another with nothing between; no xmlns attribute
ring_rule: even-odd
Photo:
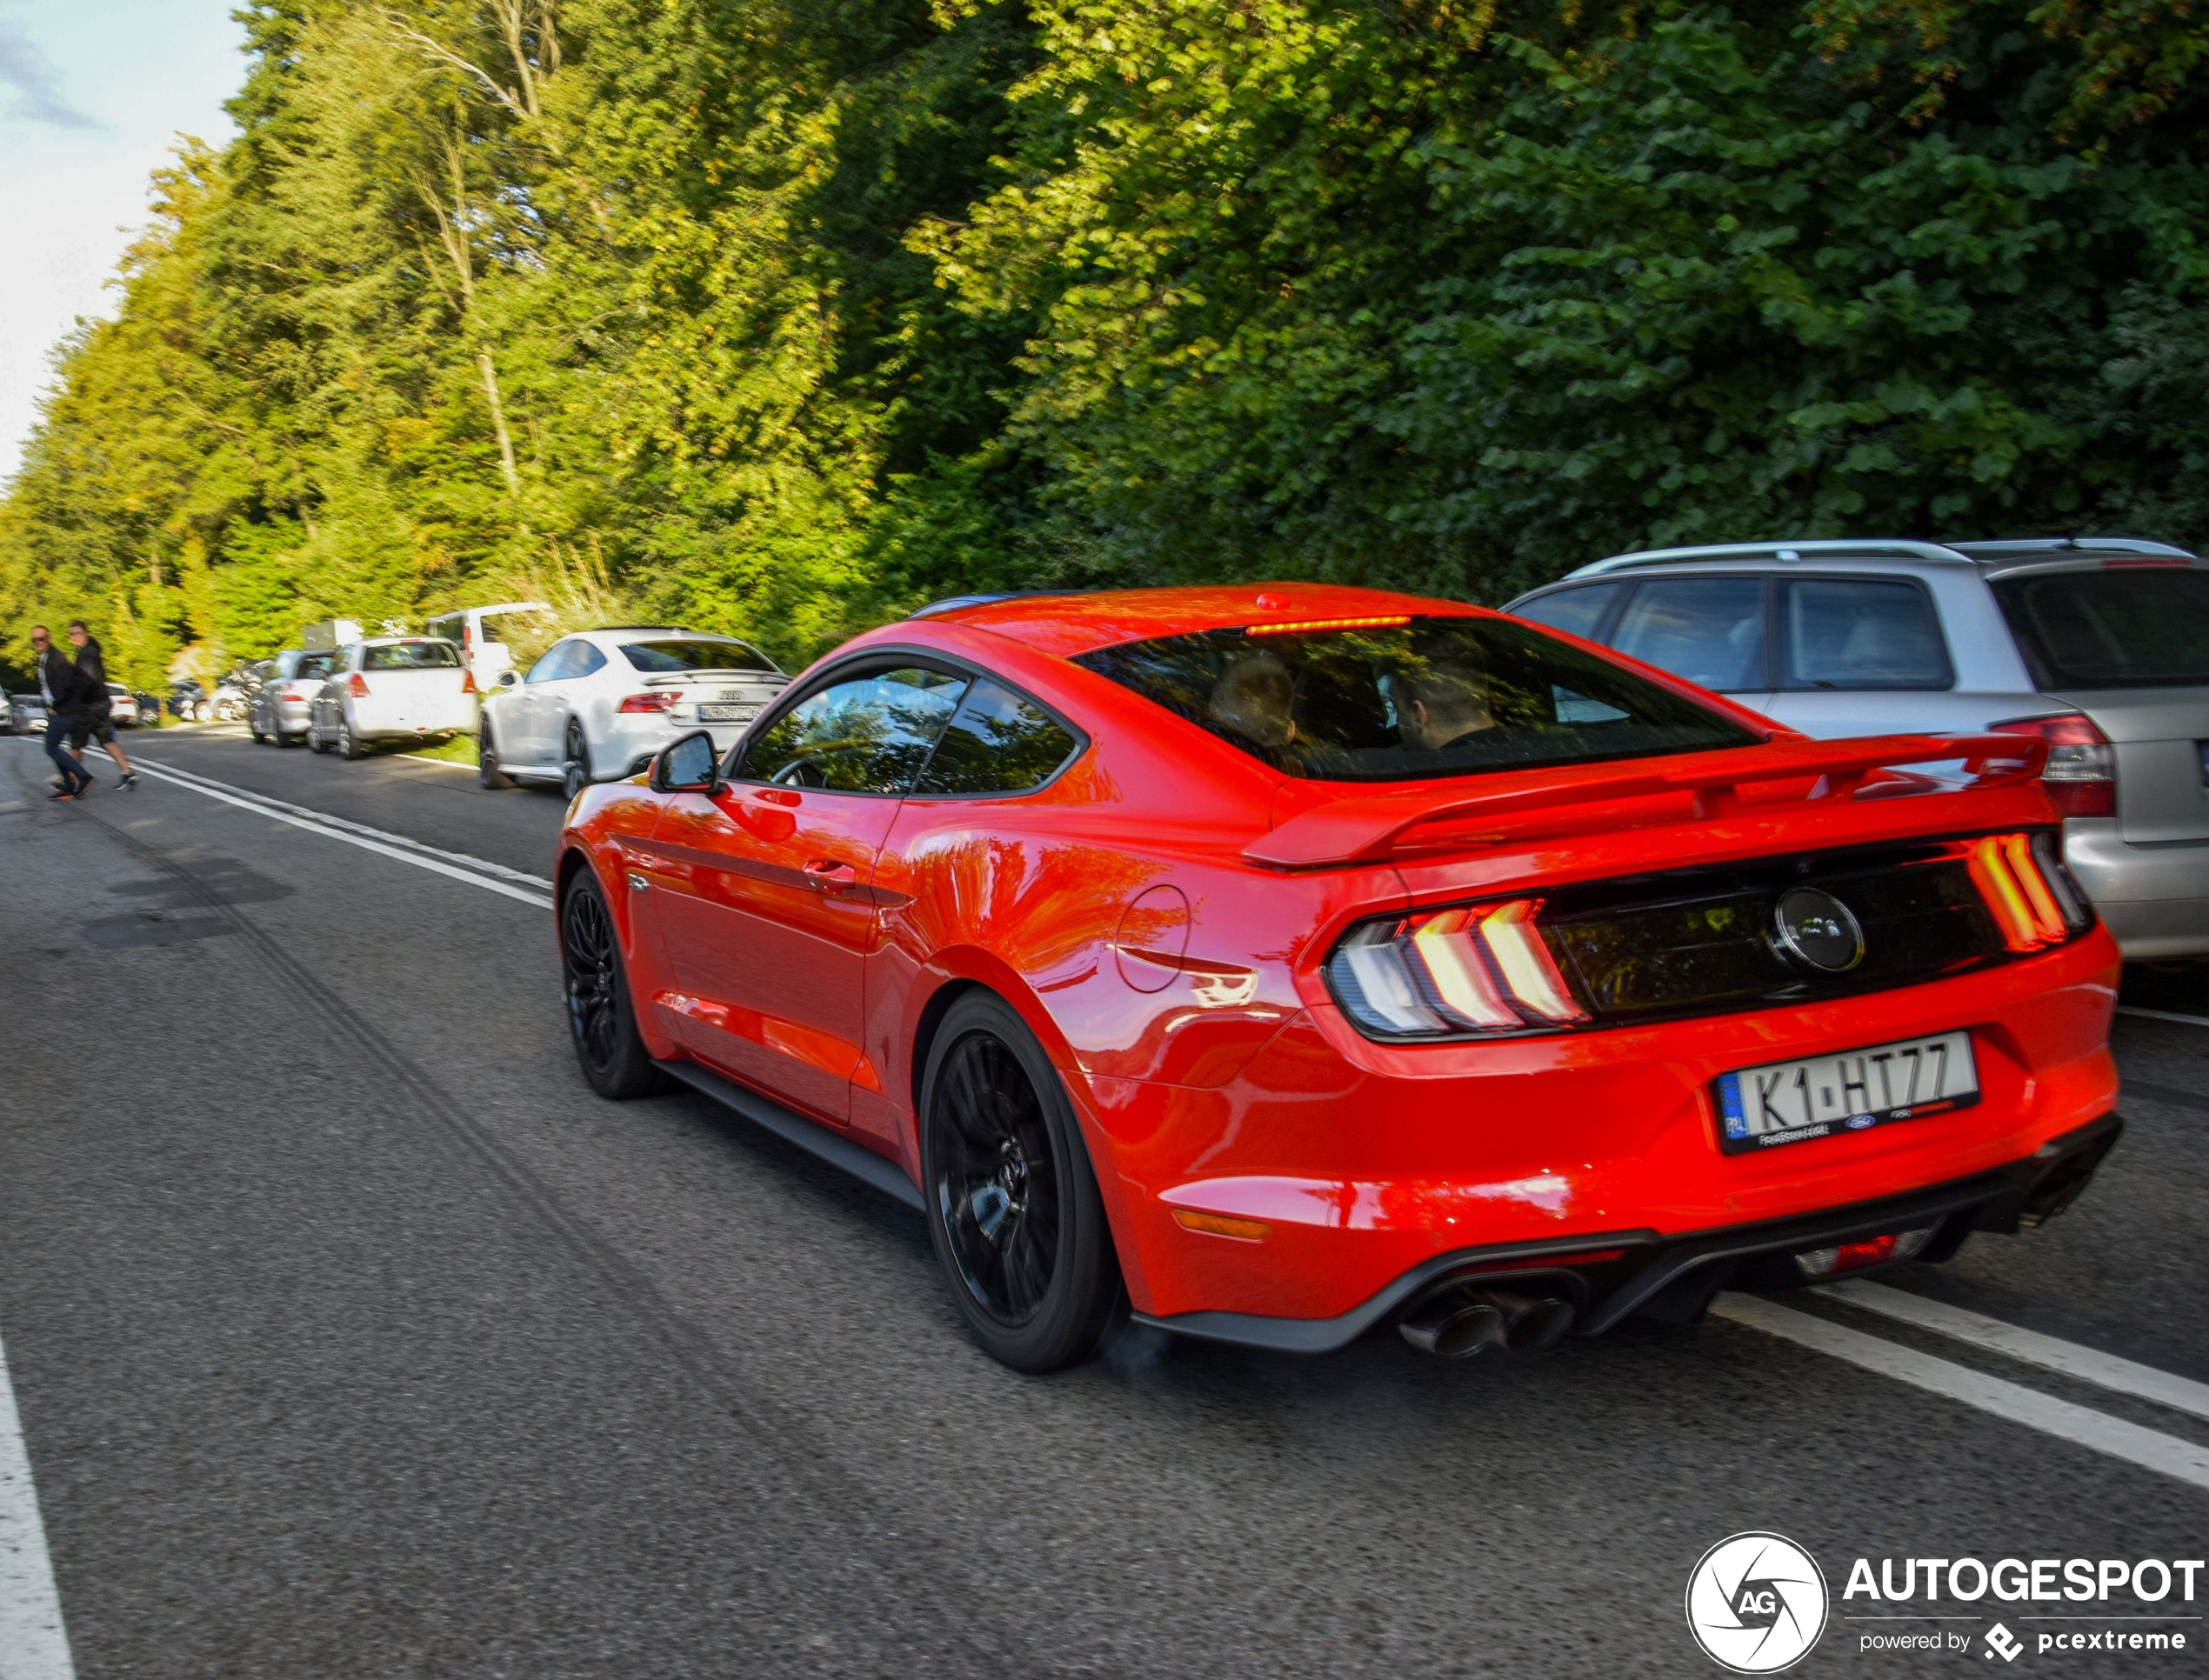
<svg viewBox="0 0 2209 1680"><path fill-rule="evenodd" d="M528 676L484 698L477 764L486 788L636 775L676 735L705 726L729 746L782 684L751 642L691 629L592 629L554 642Z"/></svg>

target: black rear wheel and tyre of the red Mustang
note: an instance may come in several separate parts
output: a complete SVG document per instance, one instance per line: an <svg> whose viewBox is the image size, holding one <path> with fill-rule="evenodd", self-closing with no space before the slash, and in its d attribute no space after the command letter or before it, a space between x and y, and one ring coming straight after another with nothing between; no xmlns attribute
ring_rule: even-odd
<svg viewBox="0 0 2209 1680"><path fill-rule="evenodd" d="M974 1340L1016 1371L1087 1360L1120 1265L1074 1104L1034 1033L970 991L921 1088L928 1234Z"/></svg>

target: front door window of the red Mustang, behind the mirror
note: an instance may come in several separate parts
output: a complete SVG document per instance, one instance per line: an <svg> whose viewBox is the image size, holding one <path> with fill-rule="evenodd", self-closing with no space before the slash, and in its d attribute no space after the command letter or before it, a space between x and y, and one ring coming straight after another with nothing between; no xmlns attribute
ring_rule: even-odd
<svg viewBox="0 0 2209 1680"><path fill-rule="evenodd" d="M831 680L744 748L736 779L906 793L965 689L965 678L917 664Z"/></svg>

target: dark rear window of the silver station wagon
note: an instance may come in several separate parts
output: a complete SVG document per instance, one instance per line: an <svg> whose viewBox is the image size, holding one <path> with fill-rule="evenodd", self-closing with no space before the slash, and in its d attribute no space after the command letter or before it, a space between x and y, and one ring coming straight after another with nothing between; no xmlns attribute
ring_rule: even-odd
<svg viewBox="0 0 2209 1680"><path fill-rule="evenodd" d="M2209 572L2046 572L1995 600L2043 689L2189 689L2209 682Z"/></svg>

